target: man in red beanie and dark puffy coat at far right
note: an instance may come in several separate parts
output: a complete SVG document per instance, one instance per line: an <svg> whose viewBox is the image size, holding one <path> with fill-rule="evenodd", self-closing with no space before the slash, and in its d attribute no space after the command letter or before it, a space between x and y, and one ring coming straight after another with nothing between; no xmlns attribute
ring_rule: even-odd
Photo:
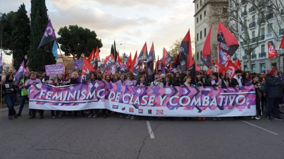
<svg viewBox="0 0 284 159"><path fill-rule="evenodd" d="M265 119L272 121L270 116L272 109L274 109L274 119L283 121L284 119L279 115L279 103L280 97L283 96L284 82L278 77L275 69L269 69L267 73L269 77L266 78L265 84L267 87L268 106L266 107Z"/></svg>

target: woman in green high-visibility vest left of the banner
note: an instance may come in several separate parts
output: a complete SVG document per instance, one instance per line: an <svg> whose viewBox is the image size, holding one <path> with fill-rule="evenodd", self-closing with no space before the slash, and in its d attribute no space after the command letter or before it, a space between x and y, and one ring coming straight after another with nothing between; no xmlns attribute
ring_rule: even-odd
<svg viewBox="0 0 284 159"><path fill-rule="evenodd" d="M22 110L24 108L24 104L25 104L25 101L29 98L28 98L28 89L25 89L25 85L27 84L27 81L28 79L30 78L30 71L25 71L24 72L24 78L20 81L20 87L19 89L22 89L21 91L21 103L20 103L20 108L19 108L19 112L18 112L18 116L22 116L21 113L22 113ZM32 110L29 109L29 115L32 115Z"/></svg>

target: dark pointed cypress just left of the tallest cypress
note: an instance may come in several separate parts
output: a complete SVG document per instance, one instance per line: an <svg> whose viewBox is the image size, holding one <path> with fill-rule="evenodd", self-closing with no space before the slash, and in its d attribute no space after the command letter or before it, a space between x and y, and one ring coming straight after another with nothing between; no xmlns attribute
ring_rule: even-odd
<svg viewBox="0 0 284 159"><path fill-rule="evenodd" d="M28 55L30 50L30 18L28 18L25 4L21 4L16 12L15 19L13 21L13 47L11 51L13 53L14 65L13 67L18 70L22 61L27 60L25 56ZM26 66L26 65L25 65Z"/></svg>

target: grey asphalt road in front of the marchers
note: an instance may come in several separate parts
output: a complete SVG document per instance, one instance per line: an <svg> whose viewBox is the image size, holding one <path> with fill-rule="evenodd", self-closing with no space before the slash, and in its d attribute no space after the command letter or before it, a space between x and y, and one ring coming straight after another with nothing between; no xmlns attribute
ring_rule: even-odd
<svg viewBox="0 0 284 159"><path fill-rule="evenodd" d="M2 108L0 158L284 158L284 121L140 121L64 116L8 120ZM18 111L19 107L15 108ZM280 108L284 111L284 108ZM282 115L284 117L284 115ZM152 133L149 134L149 129Z"/></svg>

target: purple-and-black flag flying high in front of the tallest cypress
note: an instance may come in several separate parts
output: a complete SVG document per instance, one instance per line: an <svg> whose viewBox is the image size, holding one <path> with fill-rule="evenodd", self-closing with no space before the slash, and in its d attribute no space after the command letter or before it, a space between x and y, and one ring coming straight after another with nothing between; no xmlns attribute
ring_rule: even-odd
<svg viewBox="0 0 284 159"><path fill-rule="evenodd" d="M49 19L48 24L45 28L45 31L42 35L42 39L39 43L39 47L37 48L36 51L43 50L43 46L45 44L48 44L48 43L50 43L51 41L54 41L54 40L56 40L56 35L55 35L54 29L52 27L51 21Z"/></svg>

